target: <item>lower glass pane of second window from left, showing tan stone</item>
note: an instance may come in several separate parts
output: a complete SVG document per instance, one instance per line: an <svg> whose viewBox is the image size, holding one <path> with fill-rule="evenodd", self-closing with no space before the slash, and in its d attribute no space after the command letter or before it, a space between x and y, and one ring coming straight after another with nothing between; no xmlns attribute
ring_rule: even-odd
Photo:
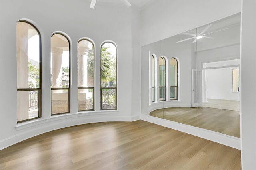
<svg viewBox="0 0 256 170"><path fill-rule="evenodd" d="M69 89L52 90L52 115L69 112Z"/></svg>

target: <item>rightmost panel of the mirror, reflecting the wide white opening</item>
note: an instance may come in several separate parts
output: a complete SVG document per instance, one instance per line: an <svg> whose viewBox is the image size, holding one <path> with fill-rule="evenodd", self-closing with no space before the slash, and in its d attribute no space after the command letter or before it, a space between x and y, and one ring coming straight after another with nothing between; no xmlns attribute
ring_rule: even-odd
<svg viewBox="0 0 256 170"><path fill-rule="evenodd" d="M202 34L201 34L202 33ZM197 28L198 127L240 138L240 14Z"/></svg>

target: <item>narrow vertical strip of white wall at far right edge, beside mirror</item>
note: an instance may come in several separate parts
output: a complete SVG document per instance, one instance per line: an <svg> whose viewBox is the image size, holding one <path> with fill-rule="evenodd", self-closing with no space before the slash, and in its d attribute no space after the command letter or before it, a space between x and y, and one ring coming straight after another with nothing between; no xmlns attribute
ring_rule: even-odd
<svg viewBox="0 0 256 170"><path fill-rule="evenodd" d="M256 167L256 1L243 0L241 34L241 153L242 169Z"/></svg>

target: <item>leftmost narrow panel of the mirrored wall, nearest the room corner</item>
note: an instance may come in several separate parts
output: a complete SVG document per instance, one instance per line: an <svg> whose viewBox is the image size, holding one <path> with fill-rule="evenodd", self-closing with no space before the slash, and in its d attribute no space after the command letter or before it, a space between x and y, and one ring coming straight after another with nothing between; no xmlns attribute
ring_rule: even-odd
<svg viewBox="0 0 256 170"><path fill-rule="evenodd" d="M163 118L163 102L166 92L166 57L163 56L163 40L141 47L142 100L141 112L154 111L155 117Z"/></svg>

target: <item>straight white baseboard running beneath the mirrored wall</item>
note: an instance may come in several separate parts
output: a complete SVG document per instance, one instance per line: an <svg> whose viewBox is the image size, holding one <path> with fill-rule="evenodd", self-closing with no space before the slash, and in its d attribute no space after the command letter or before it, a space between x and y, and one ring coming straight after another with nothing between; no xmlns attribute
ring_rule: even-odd
<svg viewBox="0 0 256 170"><path fill-rule="evenodd" d="M206 130L198 127L193 127L190 125L184 125L182 123L177 123L177 122L173 122L173 121L169 121L166 119L161 119L161 118L153 117L149 115L144 115L144 114L140 115L140 119L241 150L240 138L237 138L234 136L228 136L226 134L222 134L219 132L214 132L211 130Z"/></svg>

